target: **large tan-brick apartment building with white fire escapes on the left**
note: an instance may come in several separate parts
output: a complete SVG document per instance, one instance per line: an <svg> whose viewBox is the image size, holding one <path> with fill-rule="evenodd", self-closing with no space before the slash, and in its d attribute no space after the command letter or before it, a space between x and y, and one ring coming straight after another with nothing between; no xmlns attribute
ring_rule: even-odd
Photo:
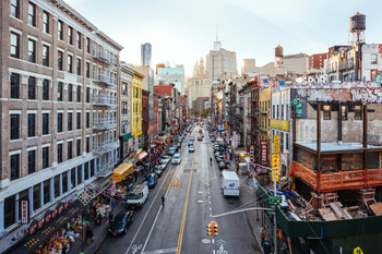
<svg viewBox="0 0 382 254"><path fill-rule="evenodd" d="M1 1L0 252L117 160L122 47L62 0ZM27 201L28 220L21 220Z"/></svg>

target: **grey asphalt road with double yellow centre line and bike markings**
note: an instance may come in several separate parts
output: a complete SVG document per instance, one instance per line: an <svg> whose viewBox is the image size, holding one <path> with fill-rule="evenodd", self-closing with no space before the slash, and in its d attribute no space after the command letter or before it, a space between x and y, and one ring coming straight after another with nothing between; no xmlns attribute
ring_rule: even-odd
<svg viewBox="0 0 382 254"><path fill-rule="evenodd" d="M144 207L134 213L134 222L126 235L108 235L102 247L105 254L253 254L260 253L244 213L216 218L218 237L207 237L206 225L212 216L241 206L240 199L224 197L220 171L213 157L212 144L205 133L196 140L195 153L188 152L184 138L180 165L169 165L159 178ZM203 130L204 131L204 130ZM206 131L204 131L206 132ZM172 180L181 183L167 188ZM166 195L165 207L160 197Z"/></svg>

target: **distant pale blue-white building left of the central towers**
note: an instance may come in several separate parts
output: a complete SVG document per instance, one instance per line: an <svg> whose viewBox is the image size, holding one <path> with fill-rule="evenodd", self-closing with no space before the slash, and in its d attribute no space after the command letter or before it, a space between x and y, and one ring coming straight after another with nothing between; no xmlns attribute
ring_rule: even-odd
<svg viewBox="0 0 382 254"><path fill-rule="evenodd" d="M175 68L165 66L157 69L156 85L175 84L175 88L182 95L184 95L184 68L181 64Z"/></svg>

